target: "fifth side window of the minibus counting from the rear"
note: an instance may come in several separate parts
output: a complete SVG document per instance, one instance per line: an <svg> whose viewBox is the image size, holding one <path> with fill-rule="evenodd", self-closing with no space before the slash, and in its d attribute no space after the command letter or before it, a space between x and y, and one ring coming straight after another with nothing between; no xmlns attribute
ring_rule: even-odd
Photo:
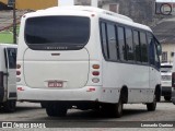
<svg viewBox="0 0 175 131"><path fill-rule="evenodd" d="M135 53L136 53L136 61L141 62L141 49L139 43L139 32L133 31L133 44L135 44Z"/></svg>

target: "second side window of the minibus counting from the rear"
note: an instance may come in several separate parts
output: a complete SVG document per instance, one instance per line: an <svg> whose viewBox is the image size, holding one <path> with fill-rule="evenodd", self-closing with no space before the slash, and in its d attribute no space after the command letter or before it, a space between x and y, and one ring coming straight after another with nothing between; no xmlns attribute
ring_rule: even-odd
<svg viewBox="0 0 175 131"><path fill-rule="evenodd" d="M107 39L108 39L109 59L117 60L116 33L115 33L115 25L113 24L107 24Z"/></svg>

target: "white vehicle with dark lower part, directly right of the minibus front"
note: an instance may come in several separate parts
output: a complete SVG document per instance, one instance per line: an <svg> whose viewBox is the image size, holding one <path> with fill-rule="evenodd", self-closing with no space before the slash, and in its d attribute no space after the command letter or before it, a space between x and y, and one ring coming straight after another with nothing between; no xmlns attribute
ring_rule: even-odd
<svg viewBox="0 0 175 131"><path fill-rule="evenodd" d="M161 63L161 84L162 84L162 96L165 100L172 98L172 70L173 63Z"/></svg>

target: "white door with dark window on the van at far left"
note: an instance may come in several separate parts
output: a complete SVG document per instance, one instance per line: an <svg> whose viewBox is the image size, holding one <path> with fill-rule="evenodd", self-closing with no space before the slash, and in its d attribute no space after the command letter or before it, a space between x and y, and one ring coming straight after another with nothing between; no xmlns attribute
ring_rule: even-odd
<svg viewBox="0 0 175 131"><path fill-rule="evenodd" d="M16 99L16 48L5 48L8 99Z"/></svg>

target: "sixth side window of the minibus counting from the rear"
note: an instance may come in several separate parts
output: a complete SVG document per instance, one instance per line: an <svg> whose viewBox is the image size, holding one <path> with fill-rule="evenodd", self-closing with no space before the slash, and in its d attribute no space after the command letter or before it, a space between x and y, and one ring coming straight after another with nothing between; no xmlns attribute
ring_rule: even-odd
<svg viewBox="0 0 175 131"><path fill-rule="evenodd" d="M140 32L140 45L141 45L141 60L142 62L148 62L147 35L143 32Z"/></svg>

